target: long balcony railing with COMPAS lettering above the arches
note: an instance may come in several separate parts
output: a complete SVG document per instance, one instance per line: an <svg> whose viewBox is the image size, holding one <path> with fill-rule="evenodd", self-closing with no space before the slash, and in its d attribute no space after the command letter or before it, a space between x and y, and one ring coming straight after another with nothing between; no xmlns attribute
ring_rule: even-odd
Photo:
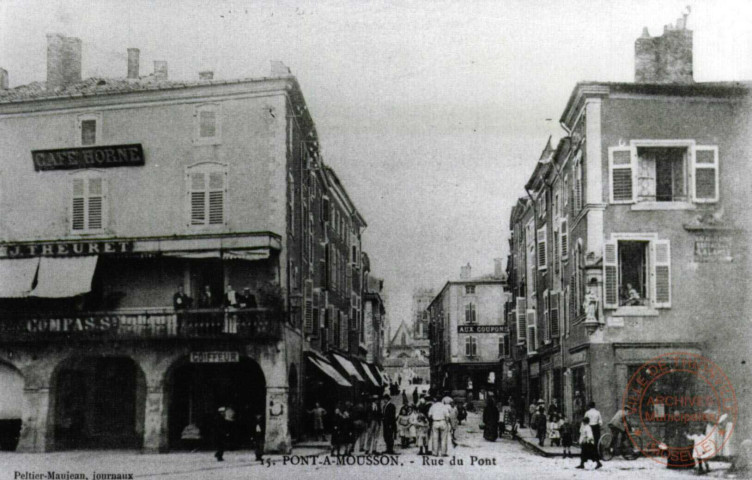
<svg viewBox="0 0 752 480"><path fill-rule="evenodd" d="M268 309L0 314L0 341L239 338L273 341L283 315Z"/></svg>

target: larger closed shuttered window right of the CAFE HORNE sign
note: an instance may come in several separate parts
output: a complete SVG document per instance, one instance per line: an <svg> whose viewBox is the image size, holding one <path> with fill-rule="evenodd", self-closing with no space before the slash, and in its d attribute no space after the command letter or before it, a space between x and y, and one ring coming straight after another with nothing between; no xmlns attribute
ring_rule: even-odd
<svg viewBox="0 0 752 480"><path fill-rule="evenodd" d="M186 173L191 227L225 224L227 172L224 165L202 163Z"/></svg>

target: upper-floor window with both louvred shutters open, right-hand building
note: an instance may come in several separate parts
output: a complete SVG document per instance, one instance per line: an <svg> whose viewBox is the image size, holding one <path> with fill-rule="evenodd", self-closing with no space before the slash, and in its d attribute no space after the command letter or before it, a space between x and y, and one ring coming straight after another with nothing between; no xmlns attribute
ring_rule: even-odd
<svg viewBox="0 0 752 480"><path fill-rule="evenodd" d="M611 203L718 201L718 147L693 140L634 140L609 148Z"/></svg>

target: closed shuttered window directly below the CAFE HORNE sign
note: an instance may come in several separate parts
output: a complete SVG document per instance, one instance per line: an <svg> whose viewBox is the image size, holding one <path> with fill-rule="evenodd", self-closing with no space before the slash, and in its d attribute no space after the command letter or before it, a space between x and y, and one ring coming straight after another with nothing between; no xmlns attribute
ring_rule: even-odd
<svg viewBox="0 0 752 480"><path fill-rule="evenodd" d="M86 171L77 173L72 180L71 231L101 232L106 225L106 179L99 172Z"/></svg>

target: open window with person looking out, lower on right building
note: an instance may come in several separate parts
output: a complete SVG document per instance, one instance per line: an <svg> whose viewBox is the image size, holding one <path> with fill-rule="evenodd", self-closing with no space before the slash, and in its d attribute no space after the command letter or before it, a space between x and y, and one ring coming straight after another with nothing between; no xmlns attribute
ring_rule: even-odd
<svg viewBox="0 0 752 480"><path fill-rule="evenodd" d="M604 246L606 308L671 306L668 240L612 240Z"/></svg>

